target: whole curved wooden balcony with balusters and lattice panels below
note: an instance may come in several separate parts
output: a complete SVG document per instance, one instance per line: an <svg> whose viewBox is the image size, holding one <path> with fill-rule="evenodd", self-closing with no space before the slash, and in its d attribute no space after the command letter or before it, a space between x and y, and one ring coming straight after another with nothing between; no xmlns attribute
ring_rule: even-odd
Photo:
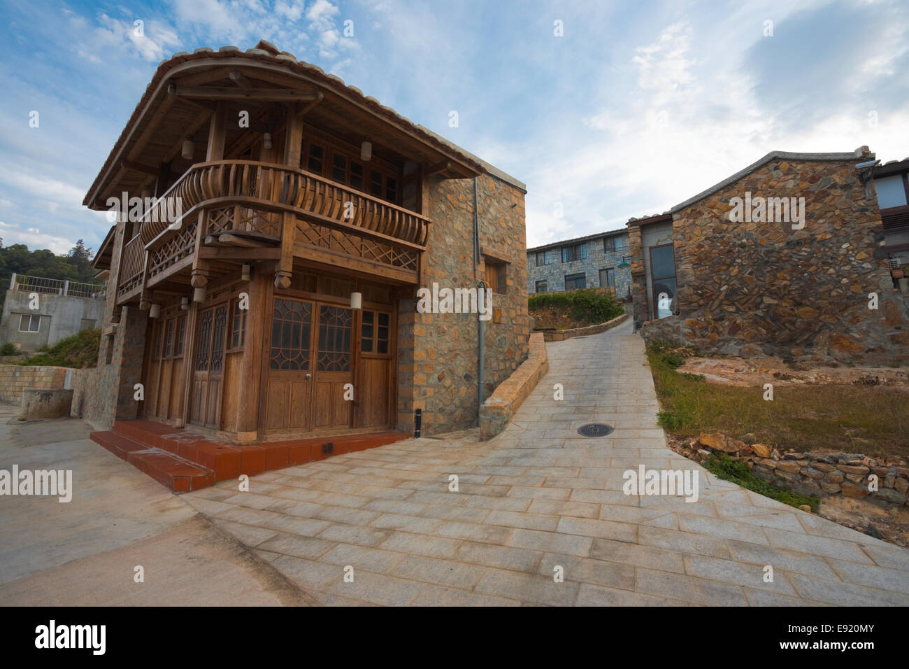
<svg viewBox="0 0 909 669"><path fill-rule="evenodd" d="M200 260L216 272L250 259L297 257L417 283L429 223L302 169L249 160L198 163L145 212L140 234L125 245L118 301L165 281L185 283Z"/></svg>

